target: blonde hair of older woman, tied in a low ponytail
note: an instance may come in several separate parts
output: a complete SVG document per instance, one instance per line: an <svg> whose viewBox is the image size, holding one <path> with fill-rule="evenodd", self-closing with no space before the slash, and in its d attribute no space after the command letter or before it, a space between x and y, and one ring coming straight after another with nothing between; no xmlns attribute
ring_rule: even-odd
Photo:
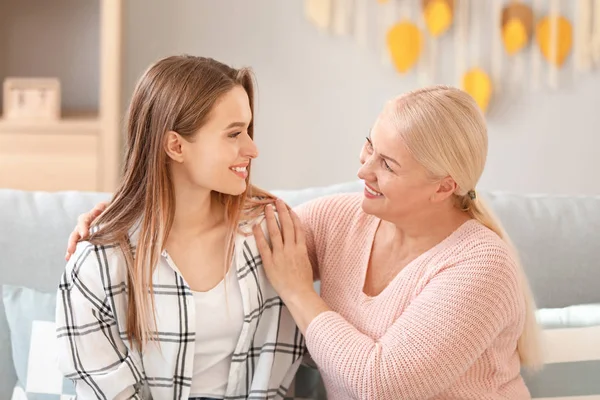
<svg viewBox="0 0 600 400"><path fill-rule="evenodd" d="M513 251L527 307L517 351L524 366L540 367L540 331L527 277L500 222L475 196L488 148L486 122L479 107L466 92L442 85L409 92L391 105L391 122L415 159L434 178L452 177L458 185L454 193L456 206L497 233Z"/></svg>

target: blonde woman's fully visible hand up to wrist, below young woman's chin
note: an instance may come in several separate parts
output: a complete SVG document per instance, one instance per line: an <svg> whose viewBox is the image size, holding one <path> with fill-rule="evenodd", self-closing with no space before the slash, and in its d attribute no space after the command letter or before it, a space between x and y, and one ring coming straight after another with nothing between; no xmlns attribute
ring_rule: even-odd
<svg viewBox="0 0 600 400"><path fill-rule="evenodd" d="M280 297L286 301L298 293L314 292L313 271L298 216L288 210L280 199L277 200L276 207L281 229L275 219L273 206L267 205L265 209L271 246L260 225L254 226L254 237L267 277Z"/></svg>

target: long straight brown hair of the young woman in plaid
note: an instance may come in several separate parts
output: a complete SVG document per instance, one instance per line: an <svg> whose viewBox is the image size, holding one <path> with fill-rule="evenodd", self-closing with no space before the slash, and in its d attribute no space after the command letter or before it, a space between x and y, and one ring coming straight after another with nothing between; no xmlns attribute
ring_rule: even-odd
<svg viewBox="0 0 600 400"><path fill-rule="evenodd" d="M89 241L117 245L128 271L127 338L139 350L153 338L155 304L152 274L171 230L175 215L173 183L169 175L165 135L175 131L185 139L206 122L217 100L236 86L246 90L254 115L251 70L234 69L211 58L172 56L159 60L140 78L128 111L123 179L112 201L95 221ZM252 119L254 121L254 118ZM254 138L254 123L248 127ZM253 218L272 196L249 184L239 196L215 193L226 209L228 226L226 264L233 255L238 222ZM258 200L260 199L260 200ZM137 229L137 243L130 244Z"/></svg>

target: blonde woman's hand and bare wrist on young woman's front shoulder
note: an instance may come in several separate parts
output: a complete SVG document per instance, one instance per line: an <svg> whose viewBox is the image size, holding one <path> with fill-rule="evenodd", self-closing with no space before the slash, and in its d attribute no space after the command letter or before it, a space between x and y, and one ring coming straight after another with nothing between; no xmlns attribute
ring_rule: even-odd
<svg viewBox="0 0 600 400"><path fill-rule="evenodd" d="M265 208L271 246L260 225L254 226L254 237L271 285L305 333L317 315L330 309L314 289L306 238L298 216L281 199L277 200L276 208L279 224L273 206Z"/></svg>

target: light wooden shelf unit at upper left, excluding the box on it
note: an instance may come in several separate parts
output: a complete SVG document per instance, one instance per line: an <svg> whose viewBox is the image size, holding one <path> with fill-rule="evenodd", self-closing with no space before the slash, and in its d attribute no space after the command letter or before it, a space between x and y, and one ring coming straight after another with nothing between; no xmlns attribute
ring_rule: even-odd
<svg viewBox="0 0 600 400"><path fill-rule="evenodd" d="M63 112L56 121L0 115L0 188L117 187L123 3L0 0L0 85L7 76L55 77L63 85ZM74 110L93 112L69 112Z"/></svg>

